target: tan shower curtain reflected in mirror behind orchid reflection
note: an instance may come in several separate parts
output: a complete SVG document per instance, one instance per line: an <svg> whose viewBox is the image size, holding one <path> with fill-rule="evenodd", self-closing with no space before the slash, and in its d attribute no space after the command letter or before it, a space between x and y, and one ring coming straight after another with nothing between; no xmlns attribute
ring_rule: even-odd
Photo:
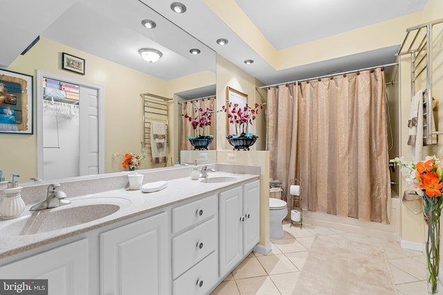
<svg viewBox="0 0 443 295"><path fill-rule="evenodd" d="M205 99L198 99L198 100L190 100L187 102L183 102L181 104L181 113L185 115L186 113L194 115L194 108L192 108L193 105L196 105L199 108L203 108L206 110L206 108L210 108L213 111L216 111L215 108L217 107L215 102L215 97L205 98ZM217 149L217 124L215 123L216 115L214 114L211 120L211 125L206 126L205 129L205 135L214 135L214 140L211 142L211 144L208 146L208 150L215 150ZM195 136L194 129L192 129L192 126L188 119L186 119L183 116L182 124L181 124L181 147L180 149L183 151L190 151L193 150L194 147L190 144L188 137L189 136Z"/></svg>

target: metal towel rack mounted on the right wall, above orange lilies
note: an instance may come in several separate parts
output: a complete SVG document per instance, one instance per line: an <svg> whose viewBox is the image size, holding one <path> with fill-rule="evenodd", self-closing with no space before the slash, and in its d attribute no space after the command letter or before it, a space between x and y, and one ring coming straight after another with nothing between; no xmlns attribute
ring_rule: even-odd
<svg viewBox="0 0 443 295"><path fill-rule="evenodd" d="M410 71L411 71L411 85L410 85L410 97L415 95L416 83L419 82L419 77L422 73L426 73L426 100L424 102L423 112L426 117L426 123L424 123L424 145L432 143L432 135L443 134L443 131L432 131L432 29L438 23L443 23L443 19L437 19L428 23L423 23L418 26L414 26L406 29L406 36L399 48L399 55L410 55ZM407 48L404 50L404 48ZM402 51L404 50L404 51ZM430 114L430 115L428 115Z"/></svg>

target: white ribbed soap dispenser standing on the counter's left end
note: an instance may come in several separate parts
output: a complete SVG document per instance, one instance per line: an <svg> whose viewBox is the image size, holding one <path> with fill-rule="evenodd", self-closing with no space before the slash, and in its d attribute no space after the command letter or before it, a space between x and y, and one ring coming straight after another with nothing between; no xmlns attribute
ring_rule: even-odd
<svg viewBox="0 0 443 295"><path fill-rule="evenodd" d="M8 189L3 189L5 196L0 204L0 216L3 219L16 218L25 211L25 202L21 198L21 187L15 178L19 175L11 173L11 181L8 182Z"/></svg>

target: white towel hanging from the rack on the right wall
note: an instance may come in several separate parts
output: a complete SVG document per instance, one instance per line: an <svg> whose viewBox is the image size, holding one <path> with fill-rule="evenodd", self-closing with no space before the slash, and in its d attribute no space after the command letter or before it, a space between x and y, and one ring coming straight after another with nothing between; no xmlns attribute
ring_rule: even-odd
<svg viewBox="0 0 443 295"><path fill-rule="evenodd" d="M420 90L413 96L410 102L410 111L408 119L410 146L410 160L417 162L422 160L423 149L423 93Z"/></svg>

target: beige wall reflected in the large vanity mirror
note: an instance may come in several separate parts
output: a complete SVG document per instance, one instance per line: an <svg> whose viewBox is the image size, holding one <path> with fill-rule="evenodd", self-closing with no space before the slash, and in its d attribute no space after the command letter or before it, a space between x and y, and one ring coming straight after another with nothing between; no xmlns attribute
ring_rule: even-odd
<svg viewBox="0 0 443 295"><path fill-rule="evenodd" d="M60 62L63 52L84 58L86 74L78 75L62 70ZM105 173L123 170L122 159L112 156L116 151L141 153L143 140L141 93L149 92L172 98L175 92L215 84L215 73L209 71L191 75L192 77L165 81L45 38L41 38L26 55L17 57L7 69L34 77L36 70L39 69L102 86L105 105ZM34 79L34 89L35 83ZM35 97L34 90L34 99ZM35 115L35 101L33 105ZM177 114L177 103L171 103L169 123L172 137L173 134L177 135L177 130L174 130ZM0 153L0 169L3 169L5 175L17 172L21 175L21 182L27 182L28 178L37 176L35 116L34 135L2 134L1 137L2 144L6 144L6 152ZM170 158L174 160L179 154L176 140L170 141L169 149L168 161ZM147 153L150 155L149 149ZM168 165L170 164L168 162ZM150 156L148 156L147 160L142 162L141 168L150 167Z"/></svg>

